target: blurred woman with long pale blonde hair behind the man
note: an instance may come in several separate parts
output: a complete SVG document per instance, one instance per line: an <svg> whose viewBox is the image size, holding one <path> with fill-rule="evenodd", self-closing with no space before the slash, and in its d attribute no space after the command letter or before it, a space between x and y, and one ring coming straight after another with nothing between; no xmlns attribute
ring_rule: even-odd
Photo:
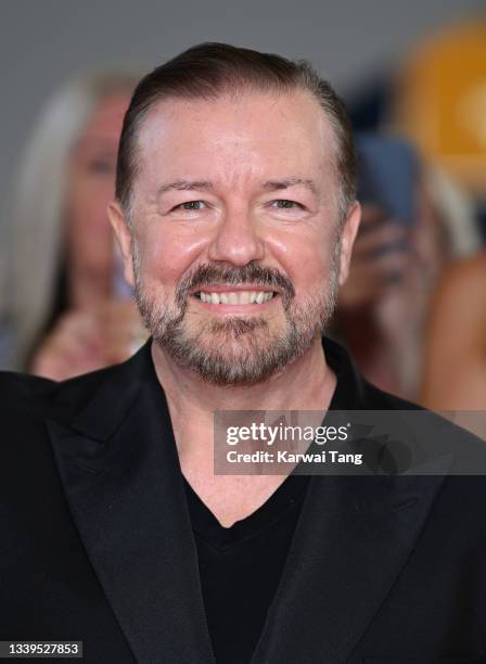
<svg viewBox="0 0 486 664"><path fill-rule="evenodd" d="M139 316L116 292L106 206L137 78L100 72L74 80L35 128L3 243L3 366L61 380L130 354Z"/></svg>

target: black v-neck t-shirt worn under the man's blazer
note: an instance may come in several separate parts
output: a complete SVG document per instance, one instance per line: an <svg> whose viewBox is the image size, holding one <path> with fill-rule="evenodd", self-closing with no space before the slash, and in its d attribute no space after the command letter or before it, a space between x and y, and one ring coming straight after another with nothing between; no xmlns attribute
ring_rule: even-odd
<svg viewBox="0 0 486 664"><path fill-rule="evenodd" d="M264 628L308 477L290 475L253 514L223 527L184 480L206 620L218 664L248 663Z"/></svg>

